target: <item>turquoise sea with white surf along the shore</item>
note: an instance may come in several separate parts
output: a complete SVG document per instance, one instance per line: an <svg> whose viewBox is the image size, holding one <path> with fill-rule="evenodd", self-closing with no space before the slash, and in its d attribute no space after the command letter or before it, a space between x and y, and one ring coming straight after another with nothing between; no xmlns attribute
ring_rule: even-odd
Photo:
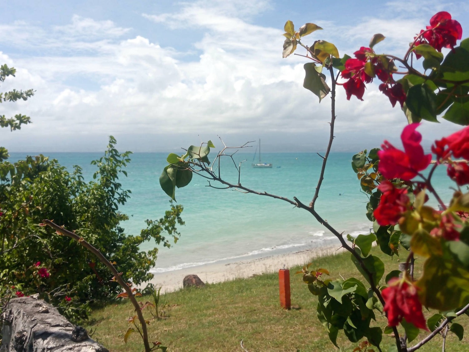
<svg viewBox="0 0 469 352"><path fill-rule="evenodd" d="M35 155L35 153L28 153ZM103 153L43 153L72 170L80 165L86 180L91 180L95 166L90 162ZM10 161L26 153L11 153ZM358 235L368 233L371 222L365 216L367 196L361 188L350 162L353 153L331 153L316 209L339 232ZM123 226L137 234L145 219L159 219L167 210L169 197L159 186L159 175L166 166L167 153L134 153L121 175L123 188L132 191L121 211L129 215ZM289 199L297 197L309 204L318 182L322 159L316 153L263 153L263 162L273 168L252 168L252 154L235 154L242 163L241 184L256 191L266 191ZM212 156L213 158L213 156ZM221 175L236 183L238 173L233 161L222 160ZM449 189L444 167L437 169L433 184L445 201ZM305 210L289 203L240 191L207 187L208 182L194 175L192 182L176 189L176 200L184 206L181 238L171 248L160 248L154 272L166 272L214 263L222 260L249 260L280 253L294 252L338 244L338 240ZM220 186L212 184L214 186ZM435 206L436 202L430 200ZM152 248L148 244L143 249Z"/></svg>

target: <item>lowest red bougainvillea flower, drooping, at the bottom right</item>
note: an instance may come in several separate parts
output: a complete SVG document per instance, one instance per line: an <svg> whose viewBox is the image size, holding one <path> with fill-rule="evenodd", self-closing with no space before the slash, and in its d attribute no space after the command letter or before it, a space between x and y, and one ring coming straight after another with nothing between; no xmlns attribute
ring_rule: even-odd
<svg viewBox="0 0 469 352"><path fill-rule="evenodd" d="M387 313L387 325L397 326L402 318L416 328L428 330L422 304L418 300L417 287L405 278L392 278L381 295L385 300L384 311Z"/></svg>

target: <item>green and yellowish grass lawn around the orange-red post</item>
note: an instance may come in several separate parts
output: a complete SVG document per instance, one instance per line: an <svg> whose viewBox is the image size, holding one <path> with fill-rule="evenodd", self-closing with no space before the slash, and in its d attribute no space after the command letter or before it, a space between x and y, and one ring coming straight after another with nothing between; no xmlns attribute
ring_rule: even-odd
<svg viewBox="0 0 469 352"><path fill-rule="evenodd" d="M397 268L399 258L385 257L374 248L386 265L386 272ZM310 268L326 268L331 278L349 277L359 274L349 260L349 253L318 258ZM416 277L421 275L421 266L416 260ZM254 351L338 351L329 341L325 328L316 316L317 298L313 296L301 275L293 275L301 268L290 269L292 309L280 307L278 274L255 275L247 279L236 279L224 283L207 285L204 289L180 290L162 295L167 303L166 318L150 319L148 326L150 341L161 341L171 351L242 351L243 346ZM197 274L197 270L194 270ZM362 280L364 281L364 280ZM144 297L142 301L151 301ZM377 315L379 312L376 312ZM428 318L432 312L424 312ZM134 315L129 301L106 306L91 315L88 330L95 329L92 337L110 351L143 351L143 343L137 333L124 344L124 333L131 326L127 318ZM468 325L463 315L458 322ZM377 316L377 326L384 329L386 318ZM424 331L414 341L426 336ZM394 338L383 336L381 346L387 351ZM442 337L437 336L419 351L441 351ZM353 351L358 346L339 333L340 351ZM378 351L375 348L375 351ZM452 333L446 338L446 351L469 351L467 338L462 341Z"/></svg>

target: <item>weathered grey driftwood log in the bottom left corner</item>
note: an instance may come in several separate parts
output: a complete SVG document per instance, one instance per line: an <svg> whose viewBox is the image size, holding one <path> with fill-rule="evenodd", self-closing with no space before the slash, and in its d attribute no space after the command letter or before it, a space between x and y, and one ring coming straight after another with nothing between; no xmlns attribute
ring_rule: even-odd
<svg viewBox="0 0 469 352"><path fill-rule="evenodd" d="M56 308L34 297L13 298L1 315L0 352L108 352Z"/></svg>

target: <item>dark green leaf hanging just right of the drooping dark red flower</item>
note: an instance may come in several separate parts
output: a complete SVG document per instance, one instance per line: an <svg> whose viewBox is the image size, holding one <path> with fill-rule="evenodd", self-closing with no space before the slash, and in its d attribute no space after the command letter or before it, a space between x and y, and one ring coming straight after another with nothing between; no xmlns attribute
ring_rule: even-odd
<svg viewBox="0 0 469 352"><path fill-rule="evenodd" d="M436 115L436 94L426 84L416 84L407 92L406 106L419 118L438 122Z"/></svg>

